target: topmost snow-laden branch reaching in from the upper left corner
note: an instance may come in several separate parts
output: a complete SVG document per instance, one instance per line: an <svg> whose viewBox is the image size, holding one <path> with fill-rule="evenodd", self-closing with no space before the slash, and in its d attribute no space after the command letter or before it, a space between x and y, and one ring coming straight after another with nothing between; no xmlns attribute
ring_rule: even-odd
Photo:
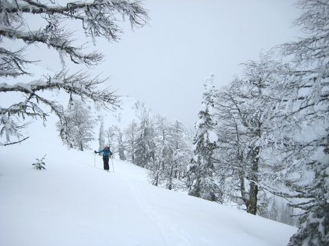
<svg viewBox="0 0 329 246"><path fill-rule="evenodd" d="M117 33L121 32L121 28L115 23L117 13L128 16L132 27L143 27L148 19L147 10L141 7L141 1L73 1L64 6L47 5L32 0L22 2L16 5L0 5L0 12L51 14L81 20L86 34L114 41L118 39Z"/></svg>

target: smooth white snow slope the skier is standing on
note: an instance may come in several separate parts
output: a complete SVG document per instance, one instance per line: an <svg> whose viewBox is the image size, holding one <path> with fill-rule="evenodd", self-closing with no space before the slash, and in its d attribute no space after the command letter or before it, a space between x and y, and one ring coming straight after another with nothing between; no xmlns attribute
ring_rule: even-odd
<svg viewBox="0 0 329 246"><path fill-rule="evenodd" d="M0 245L287 245L297 230L154 187L127 162L104 172L101 156L94 167L93 152L32 127L38 135L0 148ZM33 169L45 154L47 169Z"/></svg>

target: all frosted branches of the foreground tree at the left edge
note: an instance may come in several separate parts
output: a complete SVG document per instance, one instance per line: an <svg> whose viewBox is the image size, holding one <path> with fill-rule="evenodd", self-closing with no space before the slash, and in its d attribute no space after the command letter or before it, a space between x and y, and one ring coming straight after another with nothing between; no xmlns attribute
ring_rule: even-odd
<svg viewBox="0 0 329 246"><path fill-rule="evenodd" d="M0 48L0 76L33 77L29 65L35 61L25 56L29 52L29 46L33 44L58 51L63 65L64 57L71 59L73 64L86 64L88 67L99 64L103 55L97 51L84 54L83 45L75 42L74 31L70 31L66 24L74 20L82 24L87 37L117 41L122 32L117 25L118 14L127 16L132 27L142 27L147 20L147 12L139 1L68 1L65 5L46 0L1 1L0 39L8 45ZM40 29L30 29L29 17L32 15L40 17ZM13 44L18 40L25 42L21 49L14 48ZM42 57L37 59L41 60ZM118 96L114 92L98 89L104 81L98 77L92 78L86 72L69 74L63 70L42 78L33 77L29 83L0 83L0 92L21 92L24 95L23 100L9 107L1 107L1 136L5 135L7 141L10 141L12 135L21 137L19 130L26 125L19 124L19 121L26 116L46 120L48 113L45 108L51 109L62 125L66 123L62 107L42 94L45 90L62 90L69 95L78 95L82 100L89 98L94 102L101 102L105 107L117 105ZM62 137L65 137L65 131L62 131Z"/></svg>

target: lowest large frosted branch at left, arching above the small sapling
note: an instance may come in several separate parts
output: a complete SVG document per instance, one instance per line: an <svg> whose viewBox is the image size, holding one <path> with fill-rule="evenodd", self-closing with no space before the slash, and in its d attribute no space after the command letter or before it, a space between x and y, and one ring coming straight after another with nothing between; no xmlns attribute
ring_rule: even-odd
<svg viewBox="0 0 329 246"><path fill-rule="evenodd" d="M103 79L99 79L98 77L90 78L84 72L77 72L75 74L60 72L53 77L43 77L39 81L32 81L30 83L16 83L14 85L0 83L0 92L22 92L25 95L23 102L12 105L7 109L1 108L0 115L3 115L3 119L8 119L12 115L16 118L24 119L25 116L29 116L46 120L49 115L45 113L44 109L39 107L39 105L44 105L58 116L60 124L67 126L67 118L62 105L43 97L41 92L45 90L63 90L71 95L70 103L73 100L72 96L75 95L79 96L81 100L91 99L94 102L99 102L103 104L103 107L108 109L110 109L108 107L109 105L119 106L119 96L114 95L114 92L108 89L97 89L97 85L103 82ZM1 124L4 124L3 128L5 130L3 132L8 133L6 135L7 141L10 140L10 136L19 137L18 130L21 126L17 126L13 121L9 123L8 120L1 120ZM12 127L10 128L9 126ZM64 136L64 132L62 136Z"/></svg>

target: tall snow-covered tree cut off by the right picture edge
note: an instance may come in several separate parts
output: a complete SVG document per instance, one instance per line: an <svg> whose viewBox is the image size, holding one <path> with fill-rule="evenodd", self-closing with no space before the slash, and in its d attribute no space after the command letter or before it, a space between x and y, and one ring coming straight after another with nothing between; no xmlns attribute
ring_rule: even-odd
<svg viewBox="0 0 329 246"><path fill-rule="evenodd" d="M283 160L280 174L301 198L295 207L305 211L301 226L289 245L328 245L329 242L329 1L300 0L303 13L296 24L305 38L282 45L284 55L293 57L295 68L284 83L282 101L276 105L282 134L300 128ZM313 174L305 182L307 170ZM296 174L300 174L296 176ZM300 178L298 180L297 178ZM298 182L299 181L299 182Z"/></svg>

